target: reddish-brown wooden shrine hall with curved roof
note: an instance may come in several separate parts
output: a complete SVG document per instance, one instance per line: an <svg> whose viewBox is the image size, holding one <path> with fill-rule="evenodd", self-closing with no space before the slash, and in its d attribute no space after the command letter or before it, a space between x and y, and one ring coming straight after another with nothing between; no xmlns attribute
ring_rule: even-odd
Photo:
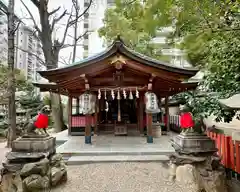
<svg viewBox="0 0 240 192"><path fill-rule="evenodd" d="M93 134L145 134L147 142L152 143L155 123L169 130L168 97L195 89L197 83L186 82L197 72L137 53L117 38L93 57L67 67L38 71L49 83L34 85L40 91L68 96L69 134L85 135L85 143L91 143ZM149 98L145 93L150 93ZM160 109L155 113L146 109L146 100L151 99ZM94 109L84 112L83 107L90 109L91 102Z"/></svg>

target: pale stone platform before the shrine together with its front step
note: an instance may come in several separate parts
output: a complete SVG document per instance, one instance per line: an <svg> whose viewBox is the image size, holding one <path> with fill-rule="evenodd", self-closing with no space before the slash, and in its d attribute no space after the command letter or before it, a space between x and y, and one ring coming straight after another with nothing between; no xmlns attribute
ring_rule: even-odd
<svg viewBox="0 0 240 192"><path fill-rule="evenodd" d="M66 132L67 133L67 132ZM171 135L171 134L170 134ZM145 137L100 135L92 137L92 144L84 144L84 136L56 135L57 152L68 165L111 162L166 162L174 153L171 136L154 138L152 144Z"/></svg>

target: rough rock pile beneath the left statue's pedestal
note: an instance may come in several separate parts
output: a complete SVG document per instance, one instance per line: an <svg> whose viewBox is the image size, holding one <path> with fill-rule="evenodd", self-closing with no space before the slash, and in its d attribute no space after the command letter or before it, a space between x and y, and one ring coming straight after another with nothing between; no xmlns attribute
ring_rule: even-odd
<svg viewBox="0 0 240 192"><path fill-rule="evenodd" d="M62 155L55 154L34 163L25 163L15 171L4 171L0 191L50 191L67 180L67 169Z"/></svg>

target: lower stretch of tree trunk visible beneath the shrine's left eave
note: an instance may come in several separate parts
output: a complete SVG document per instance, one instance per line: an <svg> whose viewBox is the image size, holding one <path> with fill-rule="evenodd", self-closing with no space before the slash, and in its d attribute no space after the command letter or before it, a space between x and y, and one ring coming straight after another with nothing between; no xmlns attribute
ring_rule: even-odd
<svg viewBox="0 0 240 192"><path fill-rule="evenodd" d="M52 117L54 122L54 130L56 133L64 130L63 108L61 96L56 93L50 93Z"/></svg>

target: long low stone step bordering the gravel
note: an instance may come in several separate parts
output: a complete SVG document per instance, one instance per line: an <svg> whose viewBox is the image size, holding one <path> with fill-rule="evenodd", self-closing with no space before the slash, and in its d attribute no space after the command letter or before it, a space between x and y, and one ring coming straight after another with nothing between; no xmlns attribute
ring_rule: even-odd
<svg viewBox="0 0 240 192"><path fill-rule="evenodd" d="M67 165L81 165L88 163L113 163L113 162L167 162L167 155L129 155L129 156L72 156L67 160Z"/></svg>

